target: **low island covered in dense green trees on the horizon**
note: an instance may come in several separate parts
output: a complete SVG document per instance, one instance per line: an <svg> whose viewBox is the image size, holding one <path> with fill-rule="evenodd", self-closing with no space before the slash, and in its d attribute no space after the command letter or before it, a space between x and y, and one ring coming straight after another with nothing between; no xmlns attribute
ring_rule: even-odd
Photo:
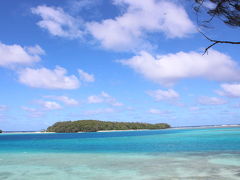
<svg viewBox="0 0 240 180"><path fill-rule="evenodd" d="M138 130L138 129L166 129L170 125L166 123L149 124L138 122L110 122L98 120L79 120L56 122L47 128L47 132L76 133L97 132L104 130Z"/></svg>

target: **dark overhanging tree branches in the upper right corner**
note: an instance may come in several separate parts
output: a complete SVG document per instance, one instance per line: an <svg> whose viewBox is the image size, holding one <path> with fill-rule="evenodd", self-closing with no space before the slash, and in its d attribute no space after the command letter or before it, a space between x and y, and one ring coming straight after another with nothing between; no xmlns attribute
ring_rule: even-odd
<svg viewBox="0 0 240 180"><path fill-rule="evenodd" d="M207 14L208 19L201 21L202 24L198 24L200 27L208 27L209 23L213 21L214 18L219 18L223 23L230 27L239 28L240 27L240 1L239 0L194 0L195 6L194 10L197 13L197 19L201 14ZM209 38L207 35L200 33L211 42L211 44L205 49L204 54L209 48L216 44L239 44L240 41L225 41L225 40L214 40Z"/></svg>

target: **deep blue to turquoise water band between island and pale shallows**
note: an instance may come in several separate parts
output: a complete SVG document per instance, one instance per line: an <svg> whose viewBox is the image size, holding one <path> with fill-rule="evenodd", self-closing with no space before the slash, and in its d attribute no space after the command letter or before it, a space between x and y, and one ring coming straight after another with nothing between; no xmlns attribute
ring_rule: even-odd
<svg viewBox="0 0 240 180"><path fill-rule="evenodd" d="M1 134L0 153L240 152L240 128Z"/></svg>

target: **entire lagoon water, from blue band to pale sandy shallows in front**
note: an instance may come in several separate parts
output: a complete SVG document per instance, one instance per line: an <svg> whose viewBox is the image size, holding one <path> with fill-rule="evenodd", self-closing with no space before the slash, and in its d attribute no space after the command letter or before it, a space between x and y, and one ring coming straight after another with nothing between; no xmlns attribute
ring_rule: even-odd
<svg viewBox="0 0 240 180"><path fill-rule="evenodd" d="M239 180L240 128L1 134L0 179Z"/></svg>

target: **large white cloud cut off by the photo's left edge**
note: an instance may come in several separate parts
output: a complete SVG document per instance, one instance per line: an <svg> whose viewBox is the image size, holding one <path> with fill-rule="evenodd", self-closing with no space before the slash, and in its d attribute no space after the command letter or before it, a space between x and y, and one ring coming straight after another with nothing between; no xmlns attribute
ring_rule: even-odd
<svg viewBox="0 0 240 180"><path fill-rule="evenodd" d="M22 47L17 44L6 45L0 42L0 66L30 65L41 60L44 50L39 46Z"/></svg>

